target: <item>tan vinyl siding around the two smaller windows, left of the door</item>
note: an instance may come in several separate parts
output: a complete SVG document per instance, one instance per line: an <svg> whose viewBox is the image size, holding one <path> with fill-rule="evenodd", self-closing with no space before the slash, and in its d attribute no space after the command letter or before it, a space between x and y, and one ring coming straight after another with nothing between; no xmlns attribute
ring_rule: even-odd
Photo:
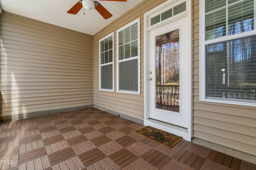
<svg viewBox="0 0 256 170"><path fill-rule="evenodd" d="M94 35L94 105L140 120L144 119L144 13L165 1L146 0ZM137 18L140 18L140 94L119 93L116 92L116 30ZM114 92L104 92L99 90L99 40L112 32L114 32Z"/></svg>

